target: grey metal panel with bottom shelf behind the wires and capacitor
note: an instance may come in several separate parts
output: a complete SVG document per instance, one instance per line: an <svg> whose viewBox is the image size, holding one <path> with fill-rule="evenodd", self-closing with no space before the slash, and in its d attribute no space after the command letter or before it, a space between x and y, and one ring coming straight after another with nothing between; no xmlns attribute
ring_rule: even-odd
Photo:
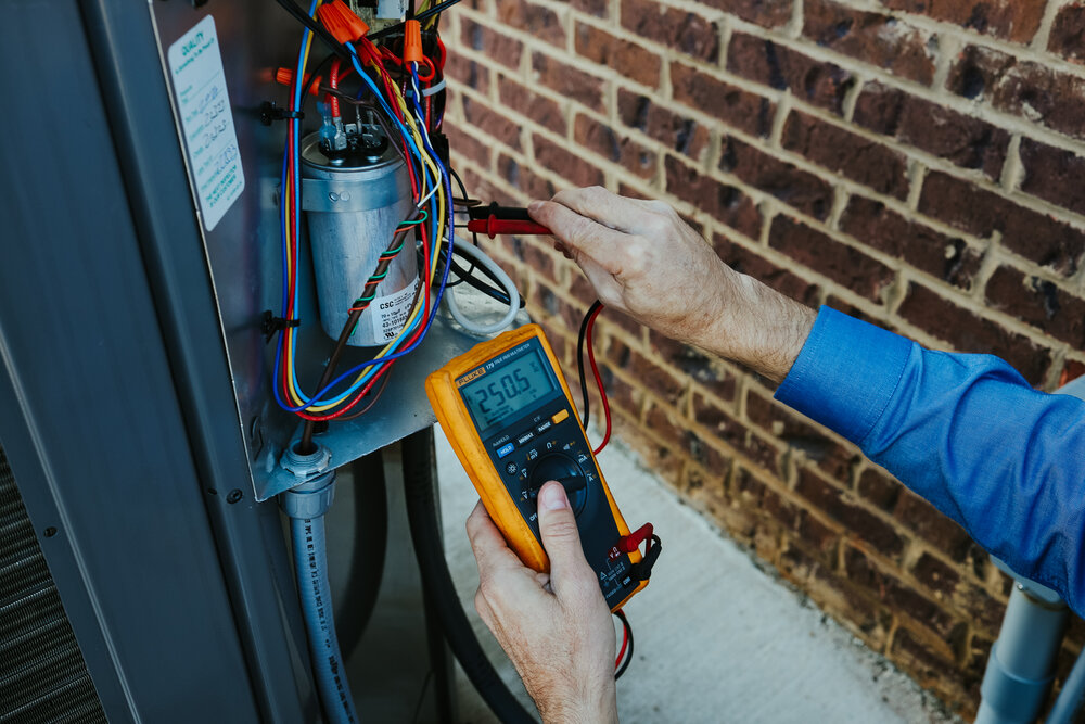
<svg viewBox="0 0 1085 724"><path fill-rule="evenodd" d="M197 5L197 7L193 7ZM205 4L153 2L154 33L178 140L199 212L217 309L237 398L235 422L244 437L253 492L267 499L282 492L273 479L297 419L271 396L275 340L261 331L265 310L281 305L282 246L279 191L286 127L265 125L260 106L288 105L276 69L293 67L302 26L269 0L212 0ZM201 56L195 61L193 55ZM314 42L309 67L328 51ZM310 117L314 106L310 101ZM303 229L305 225L303 224ZM312 388L333 341L320 328L311 262L303 231L299 251L299 380ZM387 390L363 417L333 423L320 442L341 466L433 424L425 376L477 339L438 317L425 342L400 359ZM341 368L371 358L348 347Z"/></svg>

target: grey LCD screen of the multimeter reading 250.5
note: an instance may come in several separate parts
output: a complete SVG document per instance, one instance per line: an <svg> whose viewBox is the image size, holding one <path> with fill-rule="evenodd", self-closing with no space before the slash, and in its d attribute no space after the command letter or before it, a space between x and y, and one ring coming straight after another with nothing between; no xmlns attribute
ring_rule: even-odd
<svg viewBox="0 0 1085 724"><path fill-rule="evenodd" d="M520 410L553 392L553 381L547 374L541 355L533 350L460 389L480 429L503 424Z"/></svg>

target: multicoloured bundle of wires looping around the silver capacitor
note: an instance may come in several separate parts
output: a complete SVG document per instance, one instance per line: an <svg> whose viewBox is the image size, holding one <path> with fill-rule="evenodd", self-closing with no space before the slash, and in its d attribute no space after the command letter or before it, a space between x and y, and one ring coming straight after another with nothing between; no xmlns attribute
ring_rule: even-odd
<svg viewBox="0 0 1085 724"><path fill-rule="evenodd" d="M341 7L341 8L340 8ZM330 12L322 12L322 11ZM306 17L306 25L301 50L298 51L296 69L291 84L291 101L289 130L282 164L282 307L281 315L291 322L298 309L298 239L301 236L301 120L298 116L308 87L316 80L316 74L306 78L305 69L312 45L312 17L320 14L328 30L333 34L342 28L333 27L341 10L349 10L342 2L333 2L321 8L320 0L315 0ZM295 363L297 357L297 328L286 323L279 336L276 348L276 381L273 384L276 402L310 423L323 420L344 419L379 382L387 380L392 364L412 352L425 336L433 323L436 309L441 304L445 285L448 281L448 265L441 263L443 247L452 244L452 193L449 174L430 141L430 131L439 127L439 117L434 124L433 107L429 97L423 94L423 87L432 82L444 65L444 51L437 55L436 62L425 59L401 60L387 48L378 48L365 36L365 24L353 13L350 16L361 30L354 41L343 42L342 47L349 52L350 67L341 72L340 59L335 59L330 69L329 101L334 117L339 113L339 84L349 71L358 75L362 82L359 98L370 94L375 99L376 113L381 115L381 124L388 132L390 143L398 147L404 158L411 183L412 201L416 212L396 229L395 238L391 240L387 251L381 255L380 264L373 275L362 285L363 289L349 307L350 316L344 327L343 334L336 343L335 351L326 368L315 393L306 393L297 382ZM318 26L319 27L319 26ZM321 28L322 29L322 28ZM352 33L357 26L352 25ZM323 33L321 34L324 35ZM439 43L438 43L439 47ZM420 55L420 54L419 54ZM406 75L403 88L393 79L387 65L401 69ZM419 66L423 67L423 76L419 76ZM305 90L303 90L303 87ZM425 101L422 99L425 98ZM421 242L421 282L419 293L408 315L407 322L398 335L390 341L376 357L362 363L342 374L330 379L335 363L346 345L358 318L375 296L376 285L386 274L387 265L399 253L413 253L414 243L410 232L417 232ZM404 251L405 247L407 251ZM359 280L360 282L360 280ZM435 293L431 294L434 288ZM383 380L383 382L382 382ZM380 391L380 390L379 390ZM379 393L378 391L378 393ZM362 408L361 411L365 411ZM350 417L355 417L356 412ZM311 439L312 424L306 425L306 447Z"/></svg>

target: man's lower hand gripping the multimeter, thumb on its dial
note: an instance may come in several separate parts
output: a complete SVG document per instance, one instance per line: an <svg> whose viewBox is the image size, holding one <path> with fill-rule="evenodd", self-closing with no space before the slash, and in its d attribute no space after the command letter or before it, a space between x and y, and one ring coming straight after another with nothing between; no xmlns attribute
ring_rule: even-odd
<svg viewBox="0 0 1085 724"><path fill-rule="evenodd" d="M617 722L610 610L584 558L565 488L549 482L538 501L549 575L520 562L482 503L468 518L478 561L475 608L516 666L544 722Z"/></svg>

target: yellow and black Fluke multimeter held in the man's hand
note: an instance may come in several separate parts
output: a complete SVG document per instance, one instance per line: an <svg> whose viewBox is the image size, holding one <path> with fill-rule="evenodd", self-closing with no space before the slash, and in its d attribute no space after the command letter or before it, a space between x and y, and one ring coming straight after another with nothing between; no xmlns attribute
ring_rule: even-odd
<svg viewBox="0 0 1085 724"><path fill-rule="evenodd" d="M430 374L425 392L483 505L525 566L550 568L536 497L544 483L557 480L611 610L648 585L639 549L625 551L629 528L538 325L475 345Z"/></svg>

